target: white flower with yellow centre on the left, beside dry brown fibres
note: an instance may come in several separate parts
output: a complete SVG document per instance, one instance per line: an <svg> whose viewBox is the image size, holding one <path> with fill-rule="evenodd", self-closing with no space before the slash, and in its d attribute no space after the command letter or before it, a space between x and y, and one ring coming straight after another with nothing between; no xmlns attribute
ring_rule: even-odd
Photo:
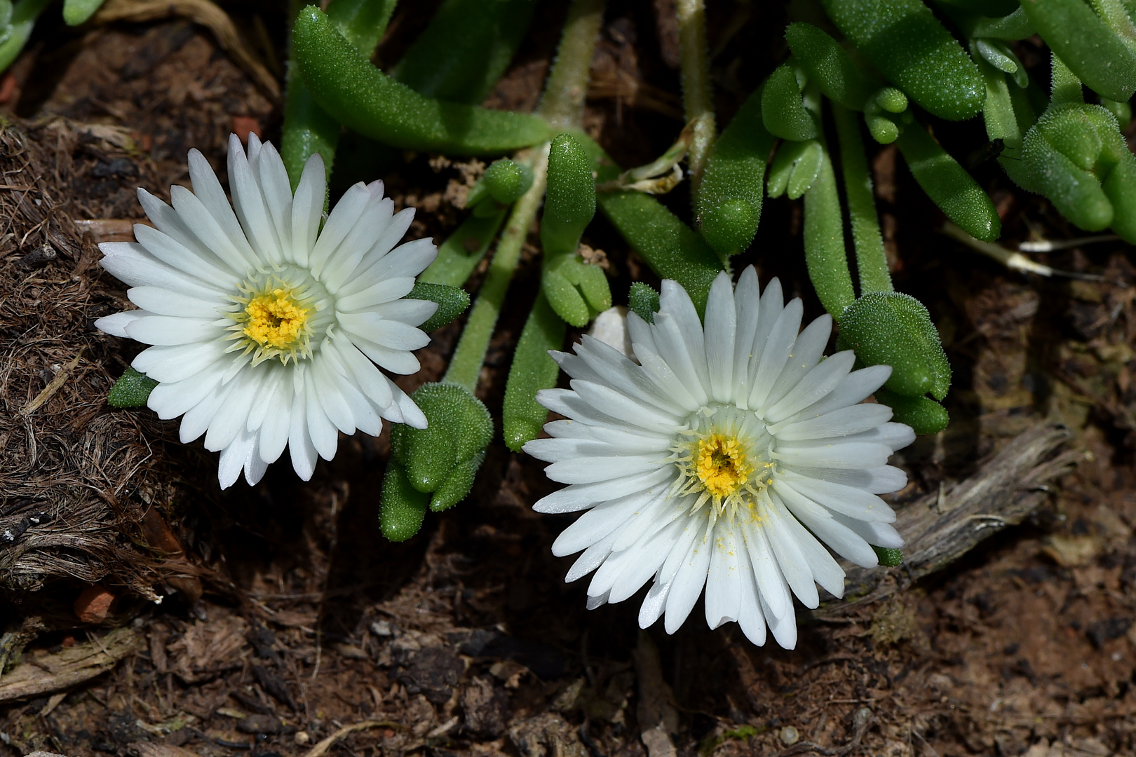
<svg viewBox="0 0 1136 757"><path fill-rule="evenodd" d="M107 334L156 345L133 367L159 381L149 406L183 415L181 437L220 451L218 478L250 483L287 446L300 478L331 460L340 431L378 435L383 418L415 428L426 417L375 363L414 373L416 328L437 305L403 300L437 255L431 239L398 247L414 209L394 213L383 183L356 184L320 229L324 163L312 155L293 196L279 153L249 135L228 143L233 205L204 157L190 151L193 192L173 208L145 190L156 228L137 243L105 243L102 267L131 285L141 310L95 321ZM235 213L234 213L235 208ZM394 247L392 250L392 247ZM374 361L374 362L373 362Z"/></svg>

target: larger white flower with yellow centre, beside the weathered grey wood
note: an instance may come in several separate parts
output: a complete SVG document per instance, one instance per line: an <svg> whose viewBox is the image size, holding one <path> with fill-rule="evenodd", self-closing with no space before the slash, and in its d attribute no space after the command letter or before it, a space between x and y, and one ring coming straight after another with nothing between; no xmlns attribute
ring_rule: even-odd
<svg viewBox="0 0 1136 757"><path fill-rule="evenodd" d="M590 608L653 578L640 625L666 614L674 633L704 586L710 628L737 621L762 645L768 626L791 649L792 595L816 607L817 584L844 591L844 571L821 541L863 566L878 564L870 545L903 544L876 495L904 486L887 460L914 434L889 423L886 405L858 404L892 369L852 371L852 352L821 360L832 318L799 335L801 301L785 305L777 279L759 297L753 268L736 293L718 276L704 331L675 281L662 283L660 305L653 325L628 316L638 364L588 337L575 355L553 353L571 389L537 399L568 420L545 426L552 438L525 451L569 486L535 510L588 511L552 552L584 550L567 580L595 571Z"/></svg>

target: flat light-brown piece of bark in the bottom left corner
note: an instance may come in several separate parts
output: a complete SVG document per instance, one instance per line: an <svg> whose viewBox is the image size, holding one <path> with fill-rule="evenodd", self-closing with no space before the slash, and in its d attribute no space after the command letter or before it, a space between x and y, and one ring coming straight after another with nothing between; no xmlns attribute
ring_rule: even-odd
<svg viewBox="0 0 1136 757"><path fill-rule="evenodd" d="M102 638L20 663L0 679L0 703L68 689L106 673L145 639L131 629L115 629Z"/></svg>

